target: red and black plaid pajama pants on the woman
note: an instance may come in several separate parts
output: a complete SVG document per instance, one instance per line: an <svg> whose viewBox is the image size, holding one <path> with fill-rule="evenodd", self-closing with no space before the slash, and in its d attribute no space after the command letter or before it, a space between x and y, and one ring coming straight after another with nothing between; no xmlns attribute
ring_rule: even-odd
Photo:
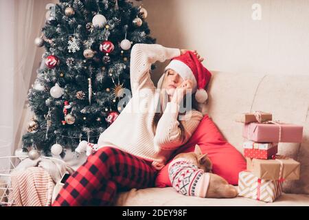
<svg viewBox="0 0 309 220"><path fill-rule="evenodd" d="M103 147L67 179L52 206L112 206L117 192L153 187L156 175L150 162Z"/></svg>

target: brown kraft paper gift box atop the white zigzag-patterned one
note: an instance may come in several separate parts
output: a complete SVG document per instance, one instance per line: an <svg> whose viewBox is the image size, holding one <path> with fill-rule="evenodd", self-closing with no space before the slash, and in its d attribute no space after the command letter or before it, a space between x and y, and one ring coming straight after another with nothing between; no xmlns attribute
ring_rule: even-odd
<svg viewBox="0 0 309 220"><path fill-rule="evenodd" d="M247 159L247 170L260 179L299 179L300 164L294 159Z"/></svg>

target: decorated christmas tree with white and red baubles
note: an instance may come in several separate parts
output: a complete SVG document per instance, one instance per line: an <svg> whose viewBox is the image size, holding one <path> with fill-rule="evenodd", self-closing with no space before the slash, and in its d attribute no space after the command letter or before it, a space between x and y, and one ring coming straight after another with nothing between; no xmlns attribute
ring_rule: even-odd
<svg viewBox="0 0 309 220"><path fill-rule="evenodd" d="M124 89L130 90L130 49L155 39L146 9L133 2L60 0L47 9L42 36L35 39L45 53L28 94L34 118L23 152L63 156L63 148L73 151L82 140L97 143L117 118Z"/></svg>

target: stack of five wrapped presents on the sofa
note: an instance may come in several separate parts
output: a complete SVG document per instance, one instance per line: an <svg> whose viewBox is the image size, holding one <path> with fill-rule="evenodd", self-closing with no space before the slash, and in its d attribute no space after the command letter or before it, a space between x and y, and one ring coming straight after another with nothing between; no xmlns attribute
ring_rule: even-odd
<svg viewBox="0 0 309 220"><path fill-rule="evenodd" d="M303 126L273 121L271 113L243 113L244 157L247 170L240 172L238 196L273 202L282 195L285 180L299 179L299 162L277 155L279 142L301 143Z"/></svg>

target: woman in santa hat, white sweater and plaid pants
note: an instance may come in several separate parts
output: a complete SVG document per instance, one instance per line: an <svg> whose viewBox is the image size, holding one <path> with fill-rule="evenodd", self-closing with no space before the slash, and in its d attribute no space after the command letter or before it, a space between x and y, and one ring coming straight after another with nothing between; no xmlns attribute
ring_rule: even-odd
<svg viewBox="0 0 309 220"><path fill-rule="evenodd" d="M171 58L158 94L150 78L151 64ZM53 206L111 206L119 191L154 186L157 170L189 140L203 118L192 110L179 120L185 95L203 91L211 76L202 61L196 51L135 44L130 60L132 99L100 135L101 148L69 177Z"/></svg>

